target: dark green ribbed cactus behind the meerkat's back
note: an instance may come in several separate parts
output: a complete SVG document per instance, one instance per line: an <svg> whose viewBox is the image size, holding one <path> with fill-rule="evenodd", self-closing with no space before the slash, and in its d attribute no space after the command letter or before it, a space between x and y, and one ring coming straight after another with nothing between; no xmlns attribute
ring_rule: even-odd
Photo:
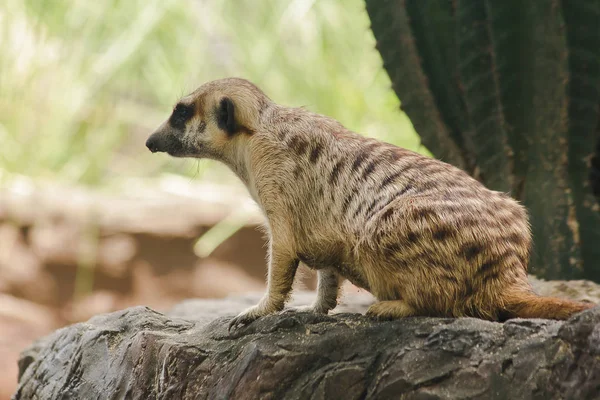
<svg viewBox="0 0 600 400"><path fill-rule="evenodd" d="M530 271L600 282L600 0L366 0L439 159L529 210Z"/></svg>

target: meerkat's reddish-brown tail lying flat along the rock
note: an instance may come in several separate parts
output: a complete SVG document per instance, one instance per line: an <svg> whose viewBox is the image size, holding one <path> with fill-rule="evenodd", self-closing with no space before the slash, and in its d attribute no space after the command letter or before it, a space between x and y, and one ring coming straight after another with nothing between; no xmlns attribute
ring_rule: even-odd
<svg viewBox="0 0 600 400"><path fill-rule="evenodd" d="M557 297L519 293L506 299L505 309L509 318L546 318L566 320L573 315L593 308L592 303L583 303Z"/></svg>

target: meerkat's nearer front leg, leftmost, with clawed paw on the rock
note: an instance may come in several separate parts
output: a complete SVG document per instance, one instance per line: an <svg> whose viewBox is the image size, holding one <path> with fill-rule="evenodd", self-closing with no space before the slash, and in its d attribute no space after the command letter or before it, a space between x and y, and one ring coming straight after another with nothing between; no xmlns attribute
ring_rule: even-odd
<svg viewBox="0 0 600 400"><path fill-rule="evenodd" d="M290 256L285 249L278 249L276 245L271 244L267 292L257 305L233 318L229 322L229 330L232 327L246 325L260 317L283 310L292 291L298 262L298 259Z"/></svg>

